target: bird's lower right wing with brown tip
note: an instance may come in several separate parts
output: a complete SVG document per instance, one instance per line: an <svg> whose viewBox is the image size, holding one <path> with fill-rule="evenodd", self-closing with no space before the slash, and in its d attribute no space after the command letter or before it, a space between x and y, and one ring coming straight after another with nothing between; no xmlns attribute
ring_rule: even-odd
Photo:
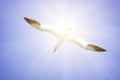
<svg viewBox="0 0 120 80"><path fill-rule="evenodd" d="M70 41L74 44L77 44L77 45L79 45L80 47L82 47L86 50L95 51L95 52L105 52L106 51L105 49L103 49L99 46L96 46L94 44L89 44L86 41L84 41L80 38L77 38L77 37L70 36L68 38L68 41Z"/></svg>

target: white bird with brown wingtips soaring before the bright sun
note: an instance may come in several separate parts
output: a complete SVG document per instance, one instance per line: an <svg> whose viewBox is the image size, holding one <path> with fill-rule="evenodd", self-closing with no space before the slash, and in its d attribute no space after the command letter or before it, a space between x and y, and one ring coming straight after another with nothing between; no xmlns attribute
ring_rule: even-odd
<svg viewBox="0 0 120 80"><path fill-rule="evenodd" d="M72 28L69 27L65 33L59 33L57 30L52 29L52 28L46 28L44 24L39 23L36 20L24 17L25 21L28 22L31 26L33 26L34 28L40 30L40 31L45 31L48 33L51 33L52 35L54 35L56 38L58 38L58 43L55 46L55 49L53 51L53 53L60 47L60 45L65 41L69 41L72 42L74 44L77 44L78 46L86 49L86 50L90 50L90 51L94 51L94 52L105 52L106 50L96 46L94 44L89 44L88 42L78 38L78 37L74 37L72 35L70 35L70 33L72 32Z"/></svg>

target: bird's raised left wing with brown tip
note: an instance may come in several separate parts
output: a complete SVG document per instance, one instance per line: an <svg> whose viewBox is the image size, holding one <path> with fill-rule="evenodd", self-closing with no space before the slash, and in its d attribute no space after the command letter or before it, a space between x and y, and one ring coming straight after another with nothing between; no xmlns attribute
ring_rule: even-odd
<svg viewBox="0 0 120 80"><path fill-rule="evenodd" d="M30 18L27 18L27 17L24 17L25 21L28 22L31 26L33 26L34 28L38 29L38 30L41 30L41 31L45 31L45 32L48 32L48 33L51 33L53 34L55 37L59 37L60 34L52 29L52 28L46 28L46 25L43 25L41 23L39 23L38 21L36 20L33 20L33 19L30 19Z"/></svg>

